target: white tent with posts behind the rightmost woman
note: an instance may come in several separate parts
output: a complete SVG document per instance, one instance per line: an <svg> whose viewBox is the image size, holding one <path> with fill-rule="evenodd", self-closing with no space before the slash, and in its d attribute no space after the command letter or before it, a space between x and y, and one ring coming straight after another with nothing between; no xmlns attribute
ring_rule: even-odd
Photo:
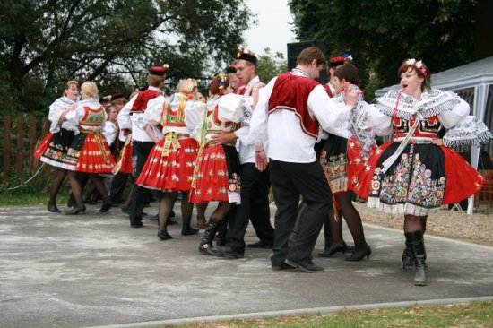
<svg viewBox="0 0 493 328"><path fill-rule="evenodd" d="M478 60L467 65L451 68L444 72L431 75L433 88L455 91L468 101L471 105L471 114L482 119L491 131L493 121L491 95L493 88L493 56ZM399 85L379 89L375 92L376 97L383 96L385 92L398 89ZM489 110L487 110L489 108ZM491 146L490 146L491 148ZM489 150L489 153L492 153ZM472 147L471 165L478 168L480 149ZM474 195L469 198L467 213L472 214L474 208Z"/></svg>

